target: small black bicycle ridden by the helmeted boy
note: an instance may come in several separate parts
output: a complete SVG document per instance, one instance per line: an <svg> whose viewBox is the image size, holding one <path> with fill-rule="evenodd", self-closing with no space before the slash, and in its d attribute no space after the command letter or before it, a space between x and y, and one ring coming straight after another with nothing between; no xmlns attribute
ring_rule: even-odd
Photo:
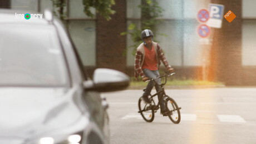
<svg viewBox="0 0 256 144"><path fill-rule="evenodd" d="M150 98L149 100L151 101L150 104L147 104L142 96L139 99L139 113L141 114L141 116L143 117L143 119L146 122L152 122L154 120L155 117L155 112L157 112L157 110L160 108L160 101L162 101L164 99L164 103L165 103L165 107L167 112L167 116L169 117L169 119L174 123L174 124L179 124L180 123L180 109L181 107L178 107L177 103L174 101L174 99L172 99L171 97L169 97L168 95L165 94L165 90L164 90L164 85L167 82L167 77L168 76L172 76L175 73L166 73L165 75L159 76L159 78L155 78L155 79L150 79L147 81L154 81L156 79L161 79L161 78L165 78L164 83L162 83L161 86L161 91L156 92L154 95L149 95ZM147 82L145 81L145 82ZM156 84L156 82L155 82ZM146 88L143 90L145 91ZM153 99L156 95L161 94L160 100L158 101L157 105L155 100ZM165 115L164 115L165 116Z"/></svg>

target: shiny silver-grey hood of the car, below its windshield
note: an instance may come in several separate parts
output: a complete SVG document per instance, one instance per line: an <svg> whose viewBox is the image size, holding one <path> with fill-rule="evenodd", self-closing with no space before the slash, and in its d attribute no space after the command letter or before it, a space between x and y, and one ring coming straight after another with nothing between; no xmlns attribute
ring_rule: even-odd
<svg viewBox="0 0 256 144"><path fill-rule="evenodd" d="M76 90L0 88L0 137L25 138L63 128L81 116Z"/></svg>

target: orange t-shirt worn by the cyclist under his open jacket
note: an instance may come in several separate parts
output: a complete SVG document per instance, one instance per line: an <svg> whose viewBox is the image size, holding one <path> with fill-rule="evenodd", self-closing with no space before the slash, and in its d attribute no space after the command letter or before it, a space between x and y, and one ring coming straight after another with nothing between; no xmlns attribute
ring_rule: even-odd
<svg viewBox="0 0 256 144"><path fill-rule="evenodd" d="M152 45L151 50L144 46L145 58L142 64L142 69L157 70L156 52Z"/></svg>

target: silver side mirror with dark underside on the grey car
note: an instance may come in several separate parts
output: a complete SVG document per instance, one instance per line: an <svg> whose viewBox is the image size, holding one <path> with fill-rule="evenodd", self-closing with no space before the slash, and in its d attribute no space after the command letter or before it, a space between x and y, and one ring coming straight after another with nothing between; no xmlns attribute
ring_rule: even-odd
<svg viewBox="0 0 256 144"><path fill-rule="evenodd" d="M129 77L117 70L96 69L93 73L93 80L83 82L83 87L89 91L117 91L129 86Z"/></svg>

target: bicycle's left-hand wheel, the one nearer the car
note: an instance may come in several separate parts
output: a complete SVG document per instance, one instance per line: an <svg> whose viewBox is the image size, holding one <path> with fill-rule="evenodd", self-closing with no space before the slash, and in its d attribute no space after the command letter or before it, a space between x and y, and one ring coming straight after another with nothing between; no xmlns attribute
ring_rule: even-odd
<svg viewBox="0 0 256 144"><path fill-rule="evenodd" d="M147 104L142 97L139 99L139 112L146 122L152 122L155 117L155 111L151 104Z"/></svg>

